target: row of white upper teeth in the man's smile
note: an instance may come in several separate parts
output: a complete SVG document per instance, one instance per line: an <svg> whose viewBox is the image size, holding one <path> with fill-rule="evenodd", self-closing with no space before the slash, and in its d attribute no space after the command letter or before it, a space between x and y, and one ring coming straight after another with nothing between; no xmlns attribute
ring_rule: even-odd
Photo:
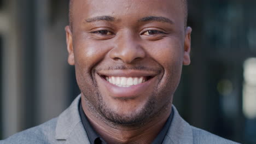
<svg viewBox="0 0 256 144"><path fill-rule="evenodd" d="M117 85L119 87L130 87L132 85L138 85L139 83L146 82L145 77L114 77L106 76L106 80L109 83Z"/></svg>

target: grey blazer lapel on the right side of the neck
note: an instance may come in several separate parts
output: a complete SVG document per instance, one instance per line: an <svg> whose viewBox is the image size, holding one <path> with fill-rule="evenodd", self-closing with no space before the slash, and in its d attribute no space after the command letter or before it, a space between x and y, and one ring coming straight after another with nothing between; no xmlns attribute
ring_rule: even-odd
<svg viewBox="0 0 256 144"><path fill-rule="evenodd" d="M176 107L172 106L173 119L171 126L165 136L164 144L193 143L193 132L191 126L179 115Z"/></svg>

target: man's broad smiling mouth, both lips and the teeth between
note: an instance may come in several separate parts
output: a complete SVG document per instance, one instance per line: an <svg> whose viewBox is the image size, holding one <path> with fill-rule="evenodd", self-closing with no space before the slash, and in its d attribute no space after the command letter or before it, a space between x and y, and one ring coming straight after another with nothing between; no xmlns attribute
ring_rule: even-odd
<svg viewBox="0 0 256 144"><path fill-rule="evenodd" d="M156 70L100 70L96 73L102 95L114 99L146 97L157 85L159 74Z"/></svg>

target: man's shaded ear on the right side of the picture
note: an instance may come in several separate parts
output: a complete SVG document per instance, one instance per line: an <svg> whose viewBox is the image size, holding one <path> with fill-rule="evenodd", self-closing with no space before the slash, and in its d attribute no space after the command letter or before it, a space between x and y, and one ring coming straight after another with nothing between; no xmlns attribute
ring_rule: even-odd
<svg viewBox="0 0 256 144"><path fill-rule="evenodd" d="M183 65L190 64L191 32L192 32L192 28L187 27L187 29L185 30Z"/></svg>

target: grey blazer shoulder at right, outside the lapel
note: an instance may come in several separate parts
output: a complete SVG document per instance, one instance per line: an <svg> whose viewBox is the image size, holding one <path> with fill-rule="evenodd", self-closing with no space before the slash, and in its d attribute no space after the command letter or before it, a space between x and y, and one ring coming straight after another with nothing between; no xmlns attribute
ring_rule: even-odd
<svg viewBox="0 0 256 144"><path fill-rule="evenodd" d="M236 144L236 142L226 140L217 135L211 134L208 131L195 128L191 126L193 132L193 143L223 143L223 144Z"/></svg>

